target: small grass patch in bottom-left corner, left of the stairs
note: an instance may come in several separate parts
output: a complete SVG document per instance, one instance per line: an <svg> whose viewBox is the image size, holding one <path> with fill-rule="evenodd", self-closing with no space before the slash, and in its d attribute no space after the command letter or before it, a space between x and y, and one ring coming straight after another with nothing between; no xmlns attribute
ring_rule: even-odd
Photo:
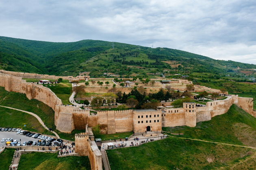
<svg viewBox="0 0 256 170"><path fill-rule="evenodd" d="M2 147L2 146L1 146ZM0 154L0 170L8 170L11 165L11 160L13 159L15 149L5 149Z"/></svg>

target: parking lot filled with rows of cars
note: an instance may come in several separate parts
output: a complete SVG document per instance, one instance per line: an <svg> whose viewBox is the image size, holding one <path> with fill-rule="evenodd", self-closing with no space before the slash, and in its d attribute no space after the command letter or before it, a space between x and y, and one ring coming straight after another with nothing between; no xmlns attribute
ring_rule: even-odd
<svg viewBox="0 0 256 170"><path fill-rule="evenodd" d="M20 135L20 134L16 134L17 132L5 132L5 131L0 131L0 140L2 139L2 138L13 138L13 140L15 140L15 139L17 139L19 142L20 142L20 140L21 140L21 144L23 143L23 142L28 142L28 141L36 141L37 142L37 140L40 140L40 139L38 139L38 138L32 138L32 137L28 137L28 136L26 136L26 135ZM44 135L45 136L45 135ZM1 142L0 143L0 146L2 147L2 146L4 146L5 145L5 142Z"/></svg>

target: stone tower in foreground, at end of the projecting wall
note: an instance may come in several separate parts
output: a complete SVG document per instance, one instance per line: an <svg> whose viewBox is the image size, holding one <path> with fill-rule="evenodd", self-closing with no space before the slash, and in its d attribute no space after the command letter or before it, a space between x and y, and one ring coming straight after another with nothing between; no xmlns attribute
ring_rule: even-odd
<svg viewBox="0 0 256 170"><path fill-rule="evenodd" d="M76 134L75 141L75 152L78 153L78 156L88 156L89 135L87 133Z"/></svg>

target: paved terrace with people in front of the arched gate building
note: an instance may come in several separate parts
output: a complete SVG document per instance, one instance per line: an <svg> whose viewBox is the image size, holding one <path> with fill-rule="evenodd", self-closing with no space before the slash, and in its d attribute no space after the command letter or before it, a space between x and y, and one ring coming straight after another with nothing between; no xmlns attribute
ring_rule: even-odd
<svg viewBox="0 0 256 170"><path fill-rule="evenodd" d="M111 143L113 143L114 145L116 144L116 145L118 145L118 144L121 144L121 142L122 142L122 144L127 144L127 146L126 147L135 147L135 146L139 146L139 145L141 145L141 144L144 144L144 143L142 143L142 141L145 141L145 143L146 143L146 141L147 141L147 139L148 139L148 141L147 141L147 143L148 142L150 142L150 139L154 139L154 141L156 141L156 140L161 140L161 136L164 136L164 134L159 134L159 135L157 135L157 136L142 136L142 135L135 135L135 136L133 136L133 137L131 137L130 139L128 139L127 141L120 141L120 139L117 139L116 140L116 142L111 142ZM139 140L134 140L134 138L139 138ZM163 138L162 138L163 139ZM133 142L133 146L130 146L130 144L132 144L132 142ZM103 145L104 145L104 149L108 149L108 144L109 142L102 142L102 144L101 144L101 150L103 150ZM123 147L121 147L121 148L123 148ZM114 149L119 149L119 148L114 148Z"/></svg>

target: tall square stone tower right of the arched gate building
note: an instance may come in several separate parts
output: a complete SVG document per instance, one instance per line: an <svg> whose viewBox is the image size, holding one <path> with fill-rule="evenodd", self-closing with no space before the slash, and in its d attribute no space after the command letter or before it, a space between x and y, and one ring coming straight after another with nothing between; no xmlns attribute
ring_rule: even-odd
<svg viewBox="0 0 256 170"><path fill-rule="evenodd" d="M195 102L184 102L183 103L186 126L189 126L189 127L196 126L196 113L195 113L196 108L195 107L196 107Z"/></svg>

